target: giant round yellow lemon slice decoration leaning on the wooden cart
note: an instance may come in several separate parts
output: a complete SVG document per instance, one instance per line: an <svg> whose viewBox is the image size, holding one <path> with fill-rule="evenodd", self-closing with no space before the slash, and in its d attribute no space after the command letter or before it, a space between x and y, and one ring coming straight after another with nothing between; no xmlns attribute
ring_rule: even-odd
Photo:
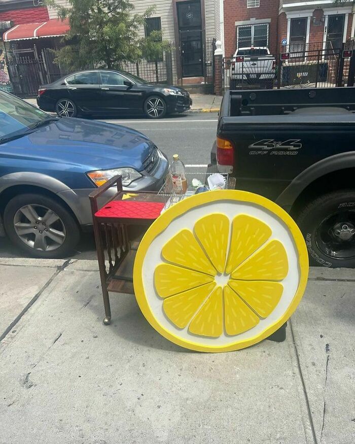
<svg viewBox="0 0 355 444"><path fill-rule="evenodd" d="M173 343L223 352L258 343L295 311L308 255L291 217L264 197L211 191L163 213L141 241L137 302Z"/></svg>

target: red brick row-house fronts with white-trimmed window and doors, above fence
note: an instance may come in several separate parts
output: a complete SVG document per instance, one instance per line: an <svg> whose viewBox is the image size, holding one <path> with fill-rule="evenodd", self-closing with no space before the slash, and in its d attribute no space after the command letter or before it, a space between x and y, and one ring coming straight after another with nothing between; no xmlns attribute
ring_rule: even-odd
<svg viewBox="0 0 355 444"><path fill-rule="evenodd" d="M291 51L307 45L339 49L354 39L352 8L351 1L225 0L224 55L229 58L243 46L268 46L277 54L283 39Z"/></svg>

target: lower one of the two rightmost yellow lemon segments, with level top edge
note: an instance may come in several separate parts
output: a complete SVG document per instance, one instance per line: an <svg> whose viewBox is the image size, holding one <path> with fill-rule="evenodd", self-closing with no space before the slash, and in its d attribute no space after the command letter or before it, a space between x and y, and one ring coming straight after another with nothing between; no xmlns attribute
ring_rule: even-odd
<svg viewBox="0 0 355 444"><path fill-rule="evenodd" d="M262 318L270 315L283 292L279 282L230 280L228 285Z"/></svg>

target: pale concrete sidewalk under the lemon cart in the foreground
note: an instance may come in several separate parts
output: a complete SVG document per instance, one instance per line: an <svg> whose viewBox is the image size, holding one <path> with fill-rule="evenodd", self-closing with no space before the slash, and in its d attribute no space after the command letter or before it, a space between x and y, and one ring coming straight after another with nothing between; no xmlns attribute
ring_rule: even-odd
<svg viewBox="0 0 355 444"><path fill-rule="evenodd" d="M285 342L214 355L129 295L104 326L96 261L0 259L0 442L351 443L354 281L311 269Z"/></svg>

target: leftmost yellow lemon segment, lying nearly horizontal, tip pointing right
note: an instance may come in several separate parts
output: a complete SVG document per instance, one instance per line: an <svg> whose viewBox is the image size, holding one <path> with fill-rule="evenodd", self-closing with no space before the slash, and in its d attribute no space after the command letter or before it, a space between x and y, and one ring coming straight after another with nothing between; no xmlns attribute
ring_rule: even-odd
<svg viewBox="0 0 355 444"><path fill-rule="evenodd" d="M154 285L163 298L212 281L212 276L171 264L159 264L154 271Z"/></svg>

